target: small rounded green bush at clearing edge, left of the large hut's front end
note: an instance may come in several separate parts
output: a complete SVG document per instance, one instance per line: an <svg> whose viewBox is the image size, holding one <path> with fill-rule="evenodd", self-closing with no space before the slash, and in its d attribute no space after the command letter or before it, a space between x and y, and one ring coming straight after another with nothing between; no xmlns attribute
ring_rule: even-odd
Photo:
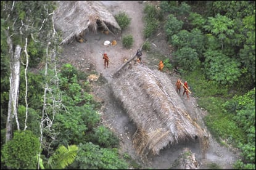
<svg viewBox="0 0 256 170"><path fill-rule="evenodd" d="M101 147L117 147L119 139L115 134L104 126L93 129L92 142L99 144ZM94 140L93 140L94 139Z"/></svg>

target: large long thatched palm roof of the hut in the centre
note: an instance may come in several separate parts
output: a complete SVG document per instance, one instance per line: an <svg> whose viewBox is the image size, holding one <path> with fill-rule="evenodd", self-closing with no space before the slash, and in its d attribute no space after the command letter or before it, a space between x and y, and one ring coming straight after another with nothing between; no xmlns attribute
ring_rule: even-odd
<svg viewBox="0 0 256 170"><path fill-rule="evenodd" d="M159 154L167 145L205 139L207 134L189 116L170 79L146 65L124 67L112 81L114 97L137 126L133 144L138 155Z"/></svg>

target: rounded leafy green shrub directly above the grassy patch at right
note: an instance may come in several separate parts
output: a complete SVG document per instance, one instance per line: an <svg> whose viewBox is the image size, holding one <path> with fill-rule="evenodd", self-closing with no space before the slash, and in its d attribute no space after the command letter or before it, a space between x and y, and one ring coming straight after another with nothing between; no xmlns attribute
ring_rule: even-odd
<svg viewBox="0 0 256 170"><path fill-rule="evenodd" d="M204 55L204 71L207 78L223 85L232 85L238 80L241 75L239 62L229 59L218 51L208 50Z"/></svg>

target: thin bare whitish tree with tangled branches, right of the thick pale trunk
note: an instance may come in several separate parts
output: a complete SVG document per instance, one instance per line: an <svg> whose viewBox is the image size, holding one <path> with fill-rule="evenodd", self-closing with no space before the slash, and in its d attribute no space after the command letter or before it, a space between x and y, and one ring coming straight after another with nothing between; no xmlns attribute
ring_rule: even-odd
<svg viewBox="0 0 256 170"><path fill-rule="evenodd" d="M49 39L54 39L56 37L56 30L54 29L54 19L52 15L52 29L51 37ZM48 35L50 36L50 34ZM49 52L49 49L51 51ZM43 103L43 110L42 110L42 118L40 123L40 149L43 145L43 138L44 138L44 131L49 132L47 135L51 138L51 142L48 145L50 148L52 142L56 140L56 132L52 129L52 124L54 123L54 118L59 111L59 108L62 107L62 102L60 99L59 94L59 78L57 76L57 67L56 67L56 46L51 47L51 42L47 43L46 47L46 62L45 62L45 71L44 76L46 77L46 82L44 86L44 103ZM54 70L54 75L48 73L48 69ZM51 77L49 81L47 81L47 77ZM51 102L49 102L51 101ZM46 145L46 144L45 144ZM49 153L49 152L48 152ZM39 169L39 161L40 161L41 153L38 153L38 169Z"/></svg>

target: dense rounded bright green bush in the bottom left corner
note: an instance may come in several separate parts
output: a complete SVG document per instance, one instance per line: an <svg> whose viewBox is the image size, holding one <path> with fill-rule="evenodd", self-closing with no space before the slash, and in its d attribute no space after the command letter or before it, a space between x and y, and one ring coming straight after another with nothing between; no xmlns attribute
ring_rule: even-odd
<svg viewBox="0 0 256 170"><path fill-rule="evenodd" d="M39 139L31 131L15 131L1 149L1 162L9 169L36 169Z"/></svg>

